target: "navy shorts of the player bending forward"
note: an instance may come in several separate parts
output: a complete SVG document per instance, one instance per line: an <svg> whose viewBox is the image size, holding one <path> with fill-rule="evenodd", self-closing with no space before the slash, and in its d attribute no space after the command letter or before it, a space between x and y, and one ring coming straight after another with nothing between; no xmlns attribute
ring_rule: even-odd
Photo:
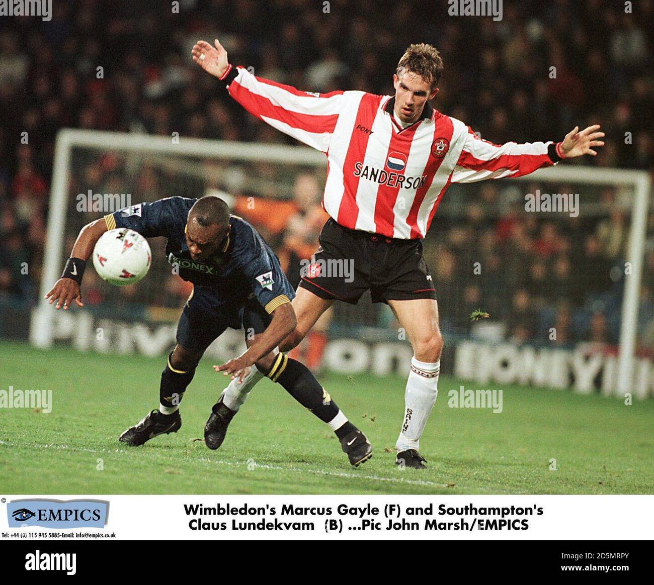
<svg viewBox="0 0 654 585"><path fill-rule="evenodd" d="M271 320L254 296L241 305L226 304L212 290L196 286L179 318L177 343L201 354L228 327L263 333Z"/></svg>

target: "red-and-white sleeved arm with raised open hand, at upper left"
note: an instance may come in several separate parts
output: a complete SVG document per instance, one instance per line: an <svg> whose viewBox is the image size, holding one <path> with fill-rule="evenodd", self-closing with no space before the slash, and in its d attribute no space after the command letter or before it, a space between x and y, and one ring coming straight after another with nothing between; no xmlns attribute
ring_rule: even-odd
<svg viewBox="0 0 654 585"><path fill-rule="evenodd" d="M343 92L313 93L256 77L242 67L232 67L227 51L218 42L198 41L193 60L210 75L228 84L230 95L250 114L285 134L327 152Z"/></svg>

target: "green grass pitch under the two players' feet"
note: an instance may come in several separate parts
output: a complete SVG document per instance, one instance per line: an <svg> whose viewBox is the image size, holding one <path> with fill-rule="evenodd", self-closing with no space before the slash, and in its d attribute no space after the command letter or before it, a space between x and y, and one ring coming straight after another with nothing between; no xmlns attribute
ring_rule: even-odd
<svg viewBox="0 0 654 585"><path fill-rule="evenodd" d="M182 402L182 428L144 446L117 442L158 404L165 358L41 351L0 343L0 389L52 390L52 412L0 409L0 491L56 493L652 493L654 401L504 390L504 411L439 398L422 437L425 471L394 465L400 376L320 376L373 444L353 469L332 431L263 380L210 451L203 426L227 378L204 359ZM483 388L489 388L488 385ZM490 386L492 388L492 386ZM550 460L556 471L550 471Z"/></svg>

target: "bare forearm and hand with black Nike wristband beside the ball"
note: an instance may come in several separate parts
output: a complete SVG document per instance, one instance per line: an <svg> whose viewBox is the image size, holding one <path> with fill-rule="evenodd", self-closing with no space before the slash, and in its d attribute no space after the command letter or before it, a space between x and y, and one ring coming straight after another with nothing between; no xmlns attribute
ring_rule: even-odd
<svg viewBox="0 0 654 585"><path fill-rule="evenodd" d="M82 273L86 267L86 261L90 258L95 248L95 242L100 239L100 236L107 231L107 224L104 219L95 220L90 224L82 227L71 257L66 263L61 278L54 283L54 286L45 295L46 299L50 299L49 303L52 305L57 301L55 309L68 310L73 300L77 303L78 307L84 307L82 303L82 293L80 292L80 284L82 283Z"/></svg>

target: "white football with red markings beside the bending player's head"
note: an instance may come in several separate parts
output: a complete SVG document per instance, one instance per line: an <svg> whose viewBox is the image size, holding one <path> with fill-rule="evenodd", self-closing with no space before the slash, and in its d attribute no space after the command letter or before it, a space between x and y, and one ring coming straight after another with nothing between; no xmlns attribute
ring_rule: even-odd
<svg viewBox="0 0 654 585"><path fill-rule="evenodd" d="M148 241L126 227L103 233L93 250L95 271L115 286L139 282L148 273L151 261Z"/></svg>

